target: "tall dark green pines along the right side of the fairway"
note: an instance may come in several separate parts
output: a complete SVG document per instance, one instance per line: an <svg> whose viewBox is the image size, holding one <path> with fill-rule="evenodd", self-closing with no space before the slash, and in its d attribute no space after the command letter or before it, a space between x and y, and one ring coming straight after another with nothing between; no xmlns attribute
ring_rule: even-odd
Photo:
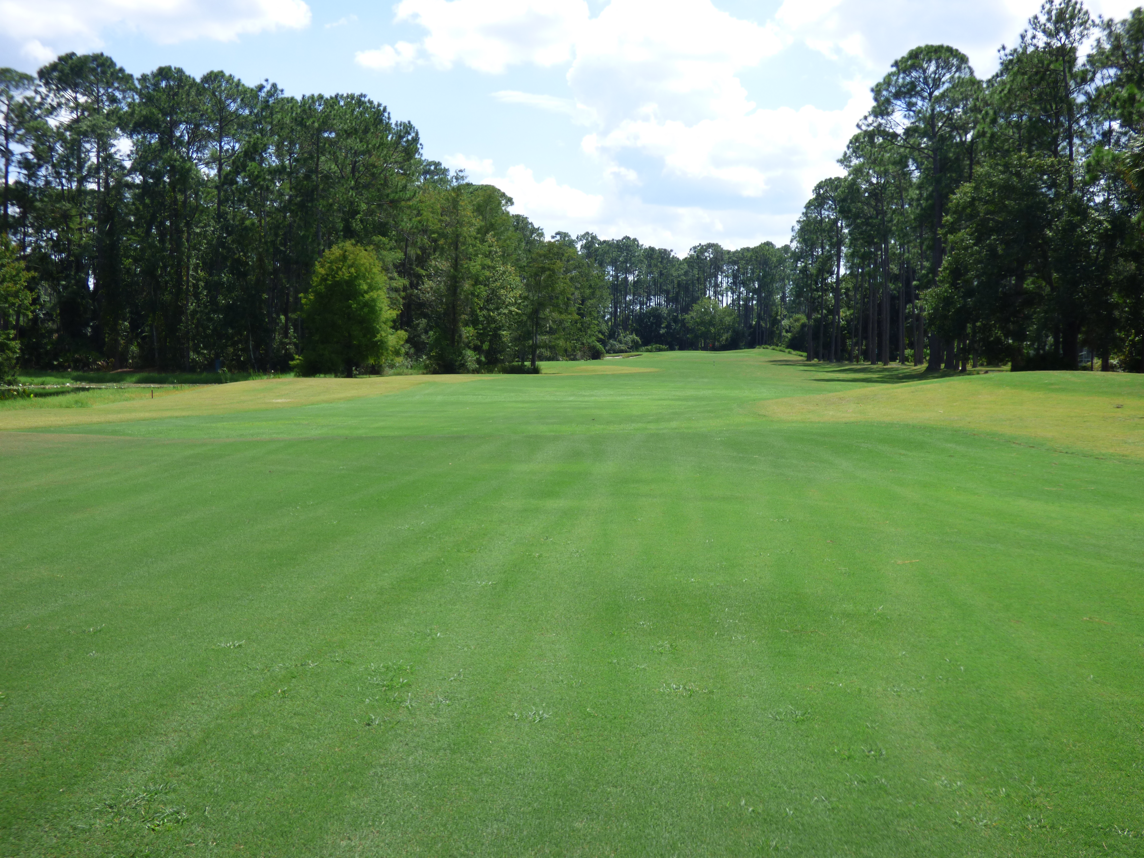
<svg viewBox="0 0 1144 858"><path fill-rule="evenodd" d="M1142 93L1144 13L1078 0L986 80L948 46L896 61L793 231L808 358L1144 371Z"/></svg>

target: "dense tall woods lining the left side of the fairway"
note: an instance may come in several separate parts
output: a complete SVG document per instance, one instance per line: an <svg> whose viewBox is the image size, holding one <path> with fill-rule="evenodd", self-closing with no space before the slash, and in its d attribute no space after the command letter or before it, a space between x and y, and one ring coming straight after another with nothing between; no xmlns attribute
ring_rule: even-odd
<svg viewBox="0 0 1144 858"><path fill-rule="evenodd" d="M468 372L602 350L603 276L575 241L365 96L69 54L0 70L0 122L9 365ZM402 336L303 355L347 272Z"/></svg>

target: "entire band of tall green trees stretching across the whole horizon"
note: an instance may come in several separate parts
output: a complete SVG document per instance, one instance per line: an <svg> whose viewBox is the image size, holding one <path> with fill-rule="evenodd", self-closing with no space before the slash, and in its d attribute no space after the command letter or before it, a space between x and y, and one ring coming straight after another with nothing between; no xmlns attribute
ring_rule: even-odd
<svg viewBox="0 0 1144 858"><path fill-rule="evenodd" d="M788 245L682 259L546 237L363 95L102 54L0 70L0 364L479 372L773 344L1144 371L1144 13L1047 0L1000 59L979 80L955 48L911 50ZM337 271L392 336L321 345Z"/></svg>

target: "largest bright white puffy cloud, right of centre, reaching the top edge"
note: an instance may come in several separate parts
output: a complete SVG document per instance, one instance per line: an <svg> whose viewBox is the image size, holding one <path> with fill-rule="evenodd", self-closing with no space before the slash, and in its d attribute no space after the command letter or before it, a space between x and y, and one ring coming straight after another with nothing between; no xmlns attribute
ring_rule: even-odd
<svg viewBox="0 0 1144 858"><path fill-rule="evenodd" d="M636 160L641 184L656 197L698 196L721 213L700 216L701 201L635 207L661 219L677 251L702 240L697 230L732 246L763 236L785 240L796 212L784 209L801 206L817 181L840 172L836 159L869 103L868 86L856 82L840 109L760 108L739 74L779 55L793 37L706 0L672 0L656 11L641 0L615 0L589 34L567 74L575 101L601 117L582 150L613 184L630 181ZM609 205L635 210L630 198ZM777 222L784 225L774 230ZM740 229L748 223L768 232Z"/></svg>

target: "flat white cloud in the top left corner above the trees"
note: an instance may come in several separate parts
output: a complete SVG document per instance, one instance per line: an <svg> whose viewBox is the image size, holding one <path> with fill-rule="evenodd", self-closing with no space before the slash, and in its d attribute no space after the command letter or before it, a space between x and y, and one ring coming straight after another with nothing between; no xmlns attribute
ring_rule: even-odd
<svg viewBox="0 0 1144 858"><path fill-rule="evenodd" d="M188 39L233 41L310 23L302 0L0 0L3 39L42 62L57 51L102 47L103 33L127 30L162 45Z"/></svg>

